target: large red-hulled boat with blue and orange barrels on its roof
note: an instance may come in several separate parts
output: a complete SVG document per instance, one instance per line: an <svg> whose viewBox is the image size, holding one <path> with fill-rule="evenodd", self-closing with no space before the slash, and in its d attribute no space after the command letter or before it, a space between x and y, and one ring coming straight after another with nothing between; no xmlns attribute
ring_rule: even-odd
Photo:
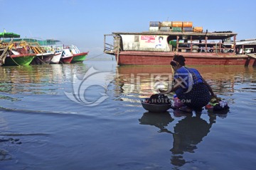
<svg viewBox="0 0 256 170"><path fill-rule="evenodd" d="M256 66L256 43L241 44L237 35L203 30L190 21L151 21L149 31L104 35L104 52L114 55L117 65L169 65L174 55L183 55L188 65Z"/></svg>

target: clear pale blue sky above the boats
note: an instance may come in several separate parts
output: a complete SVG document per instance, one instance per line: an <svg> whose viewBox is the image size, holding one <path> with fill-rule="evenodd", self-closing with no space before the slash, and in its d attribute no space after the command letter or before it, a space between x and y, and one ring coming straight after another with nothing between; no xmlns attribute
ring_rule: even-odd
<svg viewBox="0 0 256 170"><path fill-rule="evenodd" d="M88 57L103 53L104 34L147 31L150 21L192 21L203 30L232 30L238 40L256 38L253 0L0 0L0 6L0 32L61 40Z"/></svg>

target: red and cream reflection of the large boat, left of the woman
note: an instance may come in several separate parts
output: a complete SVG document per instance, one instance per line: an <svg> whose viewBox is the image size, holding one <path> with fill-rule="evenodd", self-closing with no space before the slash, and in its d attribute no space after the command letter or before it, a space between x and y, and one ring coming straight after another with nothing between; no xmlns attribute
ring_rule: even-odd
<svg viewBox="0 0 256 170"><path fill-rule="evenodd" d="M169 66L121 66L117 68L117 77L118 93L123 100L149 98L156 93L158 82L171 86L172 70Z"/></svg>

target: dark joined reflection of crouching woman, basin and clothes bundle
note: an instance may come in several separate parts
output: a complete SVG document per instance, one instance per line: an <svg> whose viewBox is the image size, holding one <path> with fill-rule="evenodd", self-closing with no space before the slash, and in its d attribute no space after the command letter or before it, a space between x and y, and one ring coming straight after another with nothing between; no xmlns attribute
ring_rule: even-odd
<svg viewBox="0 0 256 170"><path fill-rule="evenodd" d="M227 113L227 111L225 112ZM197 145L203 141L210 132L210 128L216 121L216 117L225 118L227 115L221 113L208 112L208 121L201 118L201 113L184 113L179 110L174 110L174 117L181 118L174 125L174 130L169 130L167 127L175 119L171 117L169 112L165 113L149 113L146 112L139 119L140 125L154 125L160 130L158 132L167 132L173 136L173 146L171 151L171 164L174 166L183 166L187 161L183 154L195 153L198 149Z"/></svg>

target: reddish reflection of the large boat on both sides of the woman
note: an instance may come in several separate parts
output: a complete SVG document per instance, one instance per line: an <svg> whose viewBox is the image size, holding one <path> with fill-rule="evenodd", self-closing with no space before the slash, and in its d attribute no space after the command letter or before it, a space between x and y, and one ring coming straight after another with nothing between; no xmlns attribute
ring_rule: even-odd
<svg viewBox="0 0 256 170"><path fill-rule="evenodd" d="M240 66L197 66L201 75L212 86L215 94L232 96L235 91L256 91L255 87L240 84L255 83L256 68ZM155 83L164 81L171 86L173 72L169 66L121 66L117 68L116 89L122 100L132 96L146 98L156 93Z"/></svg>

